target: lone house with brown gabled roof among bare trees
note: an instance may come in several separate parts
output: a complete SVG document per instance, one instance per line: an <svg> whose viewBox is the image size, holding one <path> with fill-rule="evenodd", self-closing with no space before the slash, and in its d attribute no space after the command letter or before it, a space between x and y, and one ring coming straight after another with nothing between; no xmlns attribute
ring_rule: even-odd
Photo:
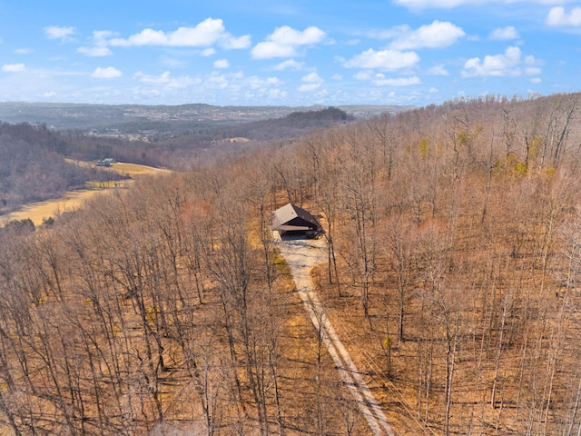
<svg viewBox="0 0 581 436"><path fill-rule="evenodd" d="M285 204L272 213L271 230L281 236L297 235L307 238L316 238L324 233L317 218L292 203Z"/></svg>

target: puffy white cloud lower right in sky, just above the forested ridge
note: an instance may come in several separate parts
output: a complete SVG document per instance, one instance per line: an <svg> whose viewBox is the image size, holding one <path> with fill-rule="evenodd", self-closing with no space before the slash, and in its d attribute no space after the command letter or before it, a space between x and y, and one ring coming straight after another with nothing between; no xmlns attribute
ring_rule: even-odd
<svg viewBox="0 0 581 436"><path fill-rule="evenodd" d="M521 64L526 65L524 70ZM516 46L508 47L504 54L487 55L481 60L478 57L468 59L462 70L463 77L487 77L487 76L518 76L521 74L539 74L541 72L534 56L526 56L524 61L522 53Z"/></svg>

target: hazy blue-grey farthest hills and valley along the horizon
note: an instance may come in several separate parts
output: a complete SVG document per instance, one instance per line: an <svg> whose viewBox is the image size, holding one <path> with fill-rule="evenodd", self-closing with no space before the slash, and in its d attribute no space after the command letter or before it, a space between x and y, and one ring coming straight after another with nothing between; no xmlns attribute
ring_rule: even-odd
<svg viewBox="0 0 581 436"><path fill-rule="evenodd" d="M357 118L399 113L413 106L346 105L340 110ZM56 130L116 129L122 133L155 130L198 130L215 124L238 124L280 118L294 112L324 109L324 106L214 106L210 104L66 104L0 103L0 121L46 124Z"/></svg>

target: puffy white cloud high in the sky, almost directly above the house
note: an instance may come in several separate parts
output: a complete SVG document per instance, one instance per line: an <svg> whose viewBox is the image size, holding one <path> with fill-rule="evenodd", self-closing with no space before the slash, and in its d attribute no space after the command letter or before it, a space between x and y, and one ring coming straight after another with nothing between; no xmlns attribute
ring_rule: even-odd
<svg viewBox="0 0 581 436"><path fill-rule="evenodd" d="M252 48L254 59L269 59L271 57L291 57L297 55L301 45L315 45L326 36L318 27L308 27L302 32L288 25L277 27L271 35Z"/></svg>

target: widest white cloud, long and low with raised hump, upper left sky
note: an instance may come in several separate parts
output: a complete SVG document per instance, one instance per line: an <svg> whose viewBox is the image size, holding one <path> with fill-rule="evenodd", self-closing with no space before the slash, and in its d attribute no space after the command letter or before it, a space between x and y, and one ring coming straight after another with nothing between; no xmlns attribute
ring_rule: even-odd
<svg viewBox="0 0 581 436"><path fill-rule="evenodd" d="M126 39L113 38L108 41L113 46L162 45L172 47L205 47L220 44L223 48L246 48L250 46L250 36L232 37L226 32L221 19L207 18L195 27L179 27L173 32L143 29L139 34Z"/></svg>

